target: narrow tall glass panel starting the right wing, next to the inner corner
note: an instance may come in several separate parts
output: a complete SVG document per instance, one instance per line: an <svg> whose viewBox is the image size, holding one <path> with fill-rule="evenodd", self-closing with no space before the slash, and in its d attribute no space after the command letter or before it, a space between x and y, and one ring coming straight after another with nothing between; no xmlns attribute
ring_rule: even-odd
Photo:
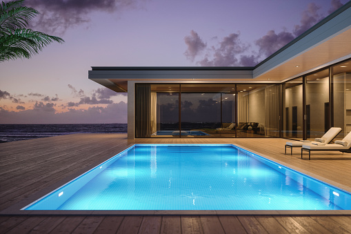
<svg viewBox="0 0 351 234"><path fill-rule="evenodd" d="M303 139L303 79L299 77L282 85L283 137Z"/></svg>

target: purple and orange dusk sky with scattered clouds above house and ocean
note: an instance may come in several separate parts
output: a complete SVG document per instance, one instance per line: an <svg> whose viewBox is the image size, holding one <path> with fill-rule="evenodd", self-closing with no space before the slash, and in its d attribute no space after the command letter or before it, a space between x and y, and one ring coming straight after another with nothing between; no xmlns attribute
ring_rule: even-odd
<svg viewBox="0 0 351 234"><path fill-rule="evenodd" d="M65 42L0 62L0 124L127 123L91 66L255 66L346 2L26 0L28 28Z"/></svg>

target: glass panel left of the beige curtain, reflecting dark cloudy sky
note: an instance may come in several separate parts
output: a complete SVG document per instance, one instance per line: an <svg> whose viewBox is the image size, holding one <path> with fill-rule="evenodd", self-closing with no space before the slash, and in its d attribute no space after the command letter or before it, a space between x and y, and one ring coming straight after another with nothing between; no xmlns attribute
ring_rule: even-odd
<svg viewBox="0 0 351 234"><path fill-rule="evenodd" d="M235 85L181 84L181 130L192 137L235 136Z"/></svg>

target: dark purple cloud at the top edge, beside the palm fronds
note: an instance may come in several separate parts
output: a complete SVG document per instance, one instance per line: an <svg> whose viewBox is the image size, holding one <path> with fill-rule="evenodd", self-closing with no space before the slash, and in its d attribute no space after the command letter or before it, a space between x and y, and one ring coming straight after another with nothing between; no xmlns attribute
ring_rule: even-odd
<svg viewBox="0 0 351 234"><path fill-rule="evenodd" d="M142 0L30 0L25 5L41 14L31 26L46 33L62 35L68 28L90 22L92 12L121 12L137 8Z"/></svg>

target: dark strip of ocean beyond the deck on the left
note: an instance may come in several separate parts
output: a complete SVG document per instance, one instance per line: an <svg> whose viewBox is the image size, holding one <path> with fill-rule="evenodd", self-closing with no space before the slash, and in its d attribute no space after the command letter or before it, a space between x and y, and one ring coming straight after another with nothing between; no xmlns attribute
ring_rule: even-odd
<svg viewBox="0 0 351 234"><path fill-rule="evenodd" d="M127 133L127 124L0 124L0 143L74 133Z"/></svg>

